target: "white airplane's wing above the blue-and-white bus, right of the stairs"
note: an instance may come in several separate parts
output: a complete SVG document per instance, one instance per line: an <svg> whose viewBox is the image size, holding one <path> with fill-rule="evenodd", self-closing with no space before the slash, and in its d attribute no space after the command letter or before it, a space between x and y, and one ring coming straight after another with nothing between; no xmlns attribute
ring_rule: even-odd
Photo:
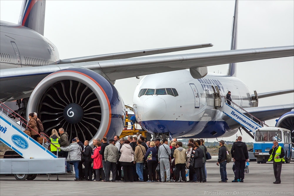
<svg viewBox="0 0 294 196"><path fill-rule="evenodd" d="M283 114L290 112L294 108L294 104L273 105L255 108L245 108L247 112L255 116L261 121L280 118ZM244 113L246 114L246 113ZM249 116L249 115L248 115Z"/></svg>

